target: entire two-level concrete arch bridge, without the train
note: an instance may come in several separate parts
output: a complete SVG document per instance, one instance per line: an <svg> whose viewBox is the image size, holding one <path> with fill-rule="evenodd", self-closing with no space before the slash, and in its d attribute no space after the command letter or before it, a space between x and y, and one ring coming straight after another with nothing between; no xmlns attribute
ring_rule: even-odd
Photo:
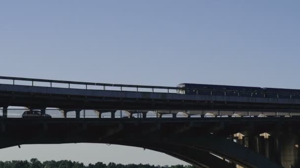
<svg viewBox="0 0 300 168"><path fill-rule="evenodd" d="M199 168L299 167L300 99L292 96L188 95L178 87L14 77L0 83L0 148L110 143Z"/></svg>

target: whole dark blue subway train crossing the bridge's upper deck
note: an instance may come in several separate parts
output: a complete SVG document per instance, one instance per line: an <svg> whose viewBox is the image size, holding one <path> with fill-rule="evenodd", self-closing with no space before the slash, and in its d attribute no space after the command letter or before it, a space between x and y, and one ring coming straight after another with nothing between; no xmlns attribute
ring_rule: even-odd
<svg viewBox="0 0 300 168"><path fill-rule="evenodd" d="M299 89L246 87L215 84L178 84L177 87L182 88L177 89L177 93L179 94L300 99Z"/></svg>

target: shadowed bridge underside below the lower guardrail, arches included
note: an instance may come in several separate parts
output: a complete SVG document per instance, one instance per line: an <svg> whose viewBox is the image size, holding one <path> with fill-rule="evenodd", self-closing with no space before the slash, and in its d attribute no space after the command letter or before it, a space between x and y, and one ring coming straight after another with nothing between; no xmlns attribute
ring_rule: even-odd
<svg viewBox="0 0 300 168"><path fill-rule="evenodd" d="M233 142L232 139L226 139L228 135L249 127L257 131L254 134L270 132L272 127L278 125L276 119L266 122L256 118L250 124L249 120L243 122L234 118L224 120L212 118L205 121L188 118L159 120L70 118L68 122L63 118L0 118L0 120L2 123L0 148L20 144L112 143L163 152L199 168L233 168L235 164L245 168L280 167L263 155ZM220 127L220 122L225 122L222 124L224 126ZM231 125L233 123L235 127ZM286 118L285 124L289 127L295 126L296 123L298 121ZM290 132L298 134L296 129ZM232 163L229 164L211 153Z"/></svg>

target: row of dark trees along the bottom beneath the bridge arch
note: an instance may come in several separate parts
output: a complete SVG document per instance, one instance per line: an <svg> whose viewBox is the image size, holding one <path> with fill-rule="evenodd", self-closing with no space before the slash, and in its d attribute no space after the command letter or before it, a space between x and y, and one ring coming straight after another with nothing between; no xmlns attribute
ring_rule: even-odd
<svg viewBox="0 0 300 168"><path fill-rule="evenodd" d="M31 159L29 161L0 161L0 168L195 168L193 166L184 166L184 165L176 165L176 166L154 166L154 165L143 165L143 164L115 164L109 163L104 164L102 162L97 162L96 164L89 164L88 166L84 166L83 163L72 162L68 160L61 161L45 161L40 162L38 159Z"/></svg>

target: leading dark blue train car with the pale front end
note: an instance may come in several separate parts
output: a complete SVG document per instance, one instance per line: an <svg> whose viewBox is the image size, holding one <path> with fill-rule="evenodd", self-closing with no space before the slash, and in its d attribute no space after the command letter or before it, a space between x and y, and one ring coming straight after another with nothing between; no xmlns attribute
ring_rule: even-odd
<svg viewBox="0 0 300 168"><path fill-rule="evenodd" d="M244 97L263 97L263 88L246 87L246 86L230 86L215 84L178 84L179 94L201 94L215 96L244 96Z"/></svg>

